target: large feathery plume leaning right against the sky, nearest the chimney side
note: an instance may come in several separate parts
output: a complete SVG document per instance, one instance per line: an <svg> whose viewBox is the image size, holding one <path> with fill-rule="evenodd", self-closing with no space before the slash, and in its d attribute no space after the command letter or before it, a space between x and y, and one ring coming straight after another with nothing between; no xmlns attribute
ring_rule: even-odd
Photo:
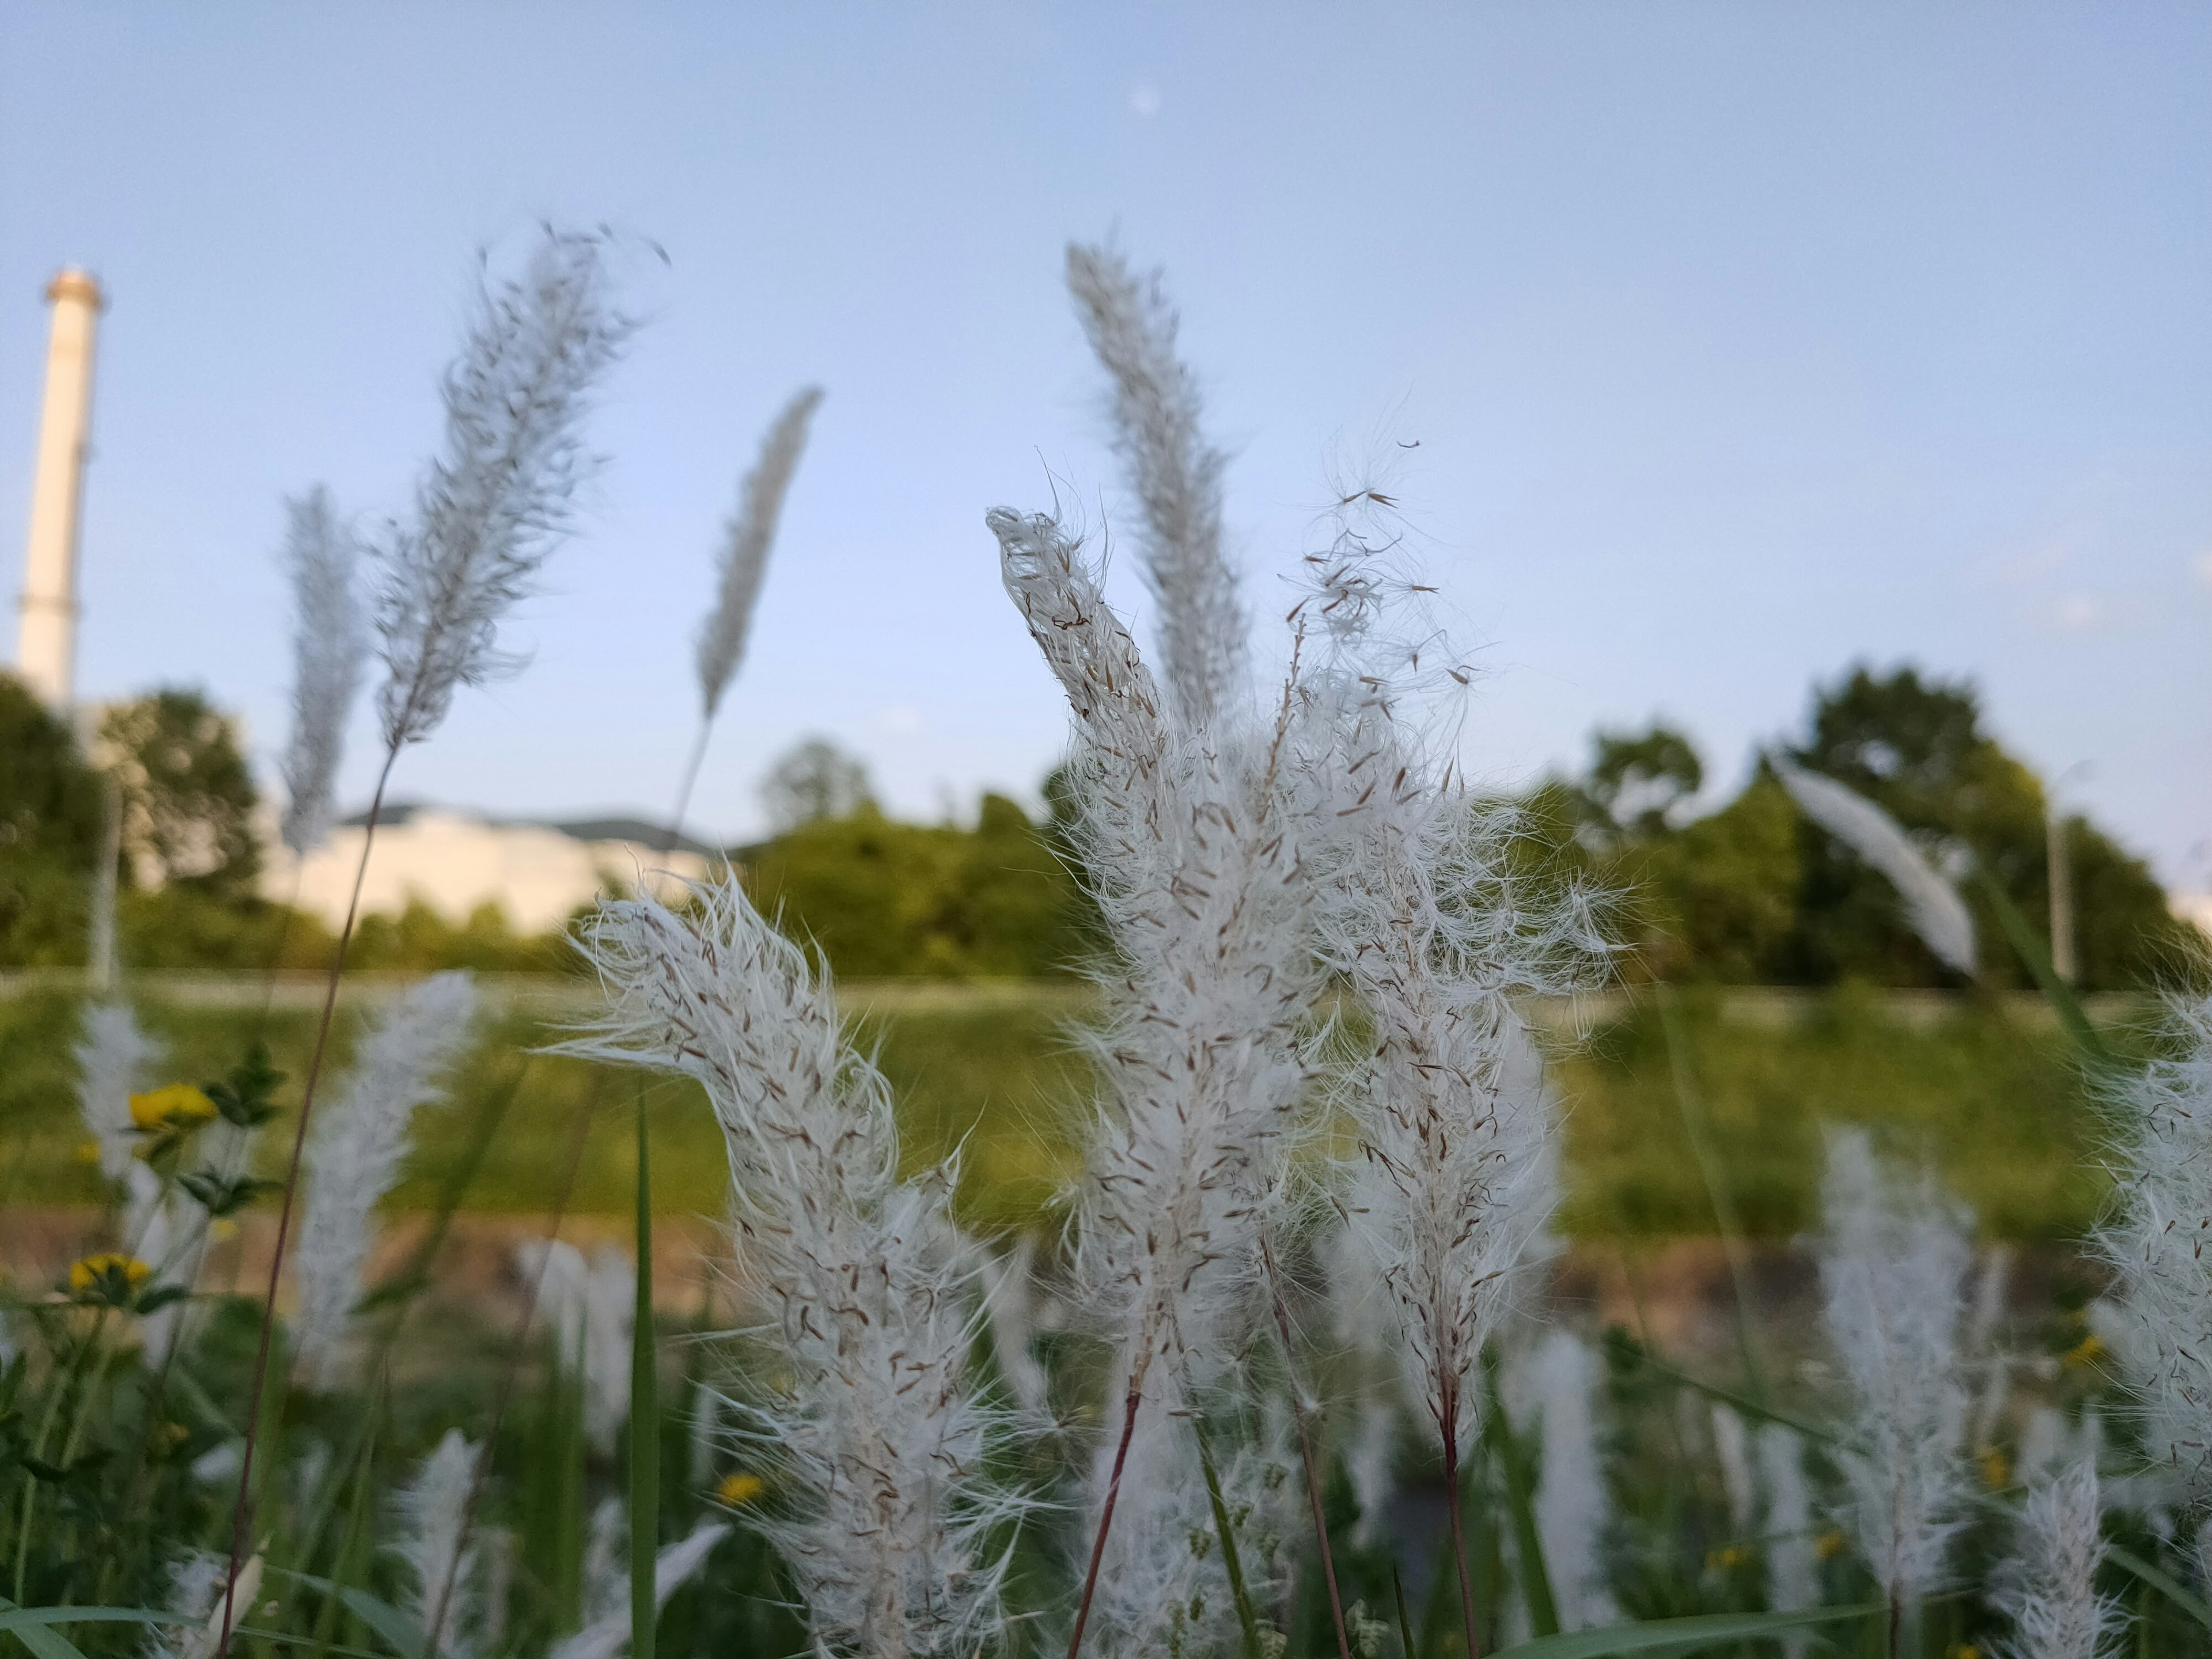
<svg viewBox="0 0 2212 1659"><path fill-rule="evenodd" d="M522 274L478 294L445 374L445 449L416 487L414 520L372 555L378 712L389 752L445 719L456 686L513 666L500 619L573 524L591 469L582 420L630 325L608 305L602 239L546 230Z"/></svg>

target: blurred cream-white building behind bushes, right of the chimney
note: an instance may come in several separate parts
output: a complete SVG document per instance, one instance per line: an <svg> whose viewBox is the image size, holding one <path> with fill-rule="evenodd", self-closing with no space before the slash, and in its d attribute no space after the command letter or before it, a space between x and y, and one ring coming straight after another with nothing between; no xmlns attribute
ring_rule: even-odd
<svg viewBox="0 0 2212 1659"><path fill-rule="evenodd" d="M272 845L261 891L338 931L365 836L365 816L356 814L305 860ZM677 880L699 880L721 863L712 847L688 836L664 847L666 832L644 818L540 823L458 807L387 805L361 880L361 914L396 916L420 900L458 925L478 907L498 905L518 933L544 933L599 894L641 887L668 894Z"/></svg>

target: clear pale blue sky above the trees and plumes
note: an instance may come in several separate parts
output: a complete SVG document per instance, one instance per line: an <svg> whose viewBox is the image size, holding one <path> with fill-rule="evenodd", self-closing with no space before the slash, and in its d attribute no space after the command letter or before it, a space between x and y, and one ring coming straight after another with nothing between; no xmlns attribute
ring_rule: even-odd
<svg viewBox="0 0 2212 1659"><path fill-rule="evenodd" d="M86 695L283 730L281 498L403 507L473 257L635 237L584 535L398 792L655 807L734 480L830 398L695 816L805 732L905 812L1064 717L982 513L1121 511L1060 290L1161 263L1263 613L1332 456L1491 670L1467 759L1686 726L1719 796L1854 659L2212 887L2212 11L2141 4L0 4L0 582L95 268ZM666 248L668 265L646 252ZM1128 568L1121 597L1141 608ZM367 785L367 728L347 796Z"/></svg>

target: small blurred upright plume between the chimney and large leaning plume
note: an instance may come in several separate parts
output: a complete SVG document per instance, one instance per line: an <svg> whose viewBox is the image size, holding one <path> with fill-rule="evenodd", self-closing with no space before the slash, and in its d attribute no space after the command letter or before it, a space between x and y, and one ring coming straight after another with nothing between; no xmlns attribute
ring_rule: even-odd
<svg viewBox="0 0 2212 1659"><path fill-rule="evenodd" d="M305 858L330 836L332 790L345 752L345 721L369 661L367 613L354 582L361 542L316 484L285 502L290 531L283 562L292 577L292 737L276 772L283 776L279 832Z"/></svg>

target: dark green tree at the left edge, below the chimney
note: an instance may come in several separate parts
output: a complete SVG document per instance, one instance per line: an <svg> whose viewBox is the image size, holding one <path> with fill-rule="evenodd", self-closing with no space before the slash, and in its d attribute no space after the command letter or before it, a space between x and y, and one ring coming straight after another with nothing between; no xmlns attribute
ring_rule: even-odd
<svg viewBox="0 0 2212 1659"><path fill-rule="evenodd" d="M0 675L0 962L84 960L100 774L69 728L13 675Z"/></svg>

